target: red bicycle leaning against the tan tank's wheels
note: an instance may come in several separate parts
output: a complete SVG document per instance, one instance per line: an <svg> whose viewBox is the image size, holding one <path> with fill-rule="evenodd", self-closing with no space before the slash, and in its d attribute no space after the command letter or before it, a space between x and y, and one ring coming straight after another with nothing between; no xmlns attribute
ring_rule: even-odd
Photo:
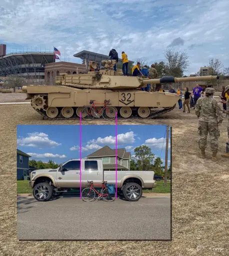
<svg viewBox="0 0 229 256"><path fill-rule="evenodd" d="M90 121L94 117L99 118L101 115L102 117L107 120L111 121L115 118L116 110L112 106L107 106L110 103L110 100L104 100L104 103L94 103L95 99L90 100L90 106L85 106L82 109L82 118L85 121ZM95 106L98 104L104 104L103 107Z"/></svg>

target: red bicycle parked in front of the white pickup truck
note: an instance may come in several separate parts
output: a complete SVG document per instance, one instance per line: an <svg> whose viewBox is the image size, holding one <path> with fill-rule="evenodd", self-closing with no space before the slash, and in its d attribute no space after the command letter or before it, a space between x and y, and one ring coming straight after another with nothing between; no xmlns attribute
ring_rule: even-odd
<svg viewBox="0 0 229 256"><path fill-rule="evenodd" d="M111 201L114 200L115 193L114 194L109 194L109 192L107 190L107 187L106 187L107 181L102 181L102 183L101 183L102 188L100 190L100 193L94 188L92 180L91 181L87 180L87 183L90 187L85 187L81 192L81 196L82 196L83 201L90 202L90 201L94 200L95 193L98 195L97 199L102 197L102 199L104 201L107 201L107 202L111 202Z"/></svg>

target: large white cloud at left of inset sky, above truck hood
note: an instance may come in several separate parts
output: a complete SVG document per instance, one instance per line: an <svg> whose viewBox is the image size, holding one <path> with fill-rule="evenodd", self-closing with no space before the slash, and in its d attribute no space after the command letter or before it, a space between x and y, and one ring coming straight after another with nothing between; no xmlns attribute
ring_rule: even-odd
<svg viewBox="0 0 229 256"><path fill-rule="evenodd" d="M48 138L48 134L43 132L31 132L27 137L20 137L17 139L18 146L31 146L37 148L56 147L61 145L54 140Z"/></svg>

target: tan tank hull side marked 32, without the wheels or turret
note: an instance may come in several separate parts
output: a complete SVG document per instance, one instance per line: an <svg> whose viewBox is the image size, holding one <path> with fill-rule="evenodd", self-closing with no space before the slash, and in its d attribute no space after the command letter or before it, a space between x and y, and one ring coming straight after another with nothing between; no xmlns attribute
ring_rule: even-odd
<svg viewBox="0 0 229 256"><path fill-rule="evenodd" d="M170 107L179 96L169 92L146 92L141 90L77 89L68 86L32 85L27 86L27 98L47 94L47 106L83 106L91 99L97 106L103 106L104 99L110 99L111 106Z"/></svg>

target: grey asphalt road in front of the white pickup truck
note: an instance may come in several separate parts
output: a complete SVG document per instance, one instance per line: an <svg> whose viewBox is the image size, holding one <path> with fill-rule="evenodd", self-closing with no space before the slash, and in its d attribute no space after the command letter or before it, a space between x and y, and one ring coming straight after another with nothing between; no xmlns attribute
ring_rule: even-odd
<svg viewBox="0 0 229 256"><path fill-rule="evenodd" d="M17 197L18 239L170 239L170 199L83 202Z"/></svg>

